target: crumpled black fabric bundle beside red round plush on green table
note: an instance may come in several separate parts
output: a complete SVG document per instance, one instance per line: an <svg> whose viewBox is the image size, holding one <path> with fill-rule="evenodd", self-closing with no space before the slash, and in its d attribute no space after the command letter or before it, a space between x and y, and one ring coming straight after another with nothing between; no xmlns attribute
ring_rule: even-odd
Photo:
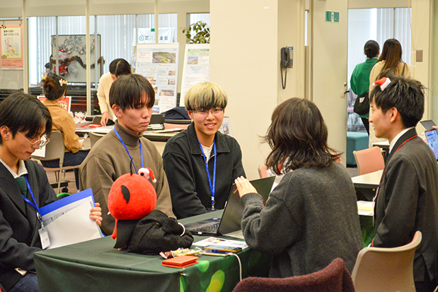
<svg viewBox="0 0 438 292"><path fill-rule="evenodd" d="M159 254L189 248L193 243L192 234L179 225L177 219L168 217L164 212L153 210L138 221L133 231L128 252L138 254Z"/></svg>

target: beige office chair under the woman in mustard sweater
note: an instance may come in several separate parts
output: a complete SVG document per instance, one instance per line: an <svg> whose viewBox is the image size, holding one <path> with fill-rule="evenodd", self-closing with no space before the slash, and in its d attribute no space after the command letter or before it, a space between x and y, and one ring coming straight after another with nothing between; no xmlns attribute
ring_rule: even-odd
<svg viewBox="0 0 438 292"><path fill-rule="evenodd" d="M46 147L46 154L44 157L38 157L38 156L32 156L32 158L42 161L47 160L60 160L60 167L44 167L45 171L55 171L55 178L57 182L57 193L60 193L61 188L61 173L64 173L64 182L68 182L65 180L66 173L65 171L68 171L70 169L79 169L79 165L75 165L73 167L63 167L64 164L64 153L65 153L65 146L64 146L64 138L62 138L62 132L60 131L53 131L50 135L50 142L47 143Z"/></svg>

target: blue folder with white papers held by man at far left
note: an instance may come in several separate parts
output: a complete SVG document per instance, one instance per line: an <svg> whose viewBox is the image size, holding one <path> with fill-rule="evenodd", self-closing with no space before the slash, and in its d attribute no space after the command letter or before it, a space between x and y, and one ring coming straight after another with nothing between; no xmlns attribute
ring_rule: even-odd
<svg viewBox="0 0 438 292"><path fill-rule="evenodd" d="M92 189L75 193L40 208L44 228L49 232L49 249L99 239L99 226L90 219L94 207Z"/></svg>

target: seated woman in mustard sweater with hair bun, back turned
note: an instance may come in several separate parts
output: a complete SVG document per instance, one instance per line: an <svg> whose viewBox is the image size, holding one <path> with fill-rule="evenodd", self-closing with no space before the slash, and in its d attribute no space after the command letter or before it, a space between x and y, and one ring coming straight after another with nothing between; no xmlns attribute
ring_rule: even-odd
<svg viewBox="0 0 438 292"><path fill-rule="evenodd" d="M42 80L42 88L44 96L47 98L42 101L42 104L49 109L52 117L52 131L62 132L64 138L64 167L73 167L80 165L86 158L88 150L82 150L83 144L79 141L79 136L75 134L76 125L71 114L63 108L58 101L65 97L67 90L67 82L64 78L50 73ZM45 160L41 161L44 167L59 167L60 160ZM79 190L79 170L75 169L75 183Z"/></svg>

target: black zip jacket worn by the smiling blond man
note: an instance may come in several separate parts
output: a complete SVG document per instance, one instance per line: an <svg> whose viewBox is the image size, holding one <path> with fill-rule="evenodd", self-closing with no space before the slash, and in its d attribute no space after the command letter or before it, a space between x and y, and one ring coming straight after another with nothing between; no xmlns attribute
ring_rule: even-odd
<svg viewBox="0 0 438 292"><path fill-rule="evenodd" d="M223 209L235 178L245 176L242 151L235 138L220 132L216 141L215 208ZM213 154L213 152L211 152ZM164 171L170 187L172 208L178 219L205 213L211 208L211 191L201 147L194 123L173 136L163 152ZM210 178L213 178L214 155L209 158Z"/></svg>

